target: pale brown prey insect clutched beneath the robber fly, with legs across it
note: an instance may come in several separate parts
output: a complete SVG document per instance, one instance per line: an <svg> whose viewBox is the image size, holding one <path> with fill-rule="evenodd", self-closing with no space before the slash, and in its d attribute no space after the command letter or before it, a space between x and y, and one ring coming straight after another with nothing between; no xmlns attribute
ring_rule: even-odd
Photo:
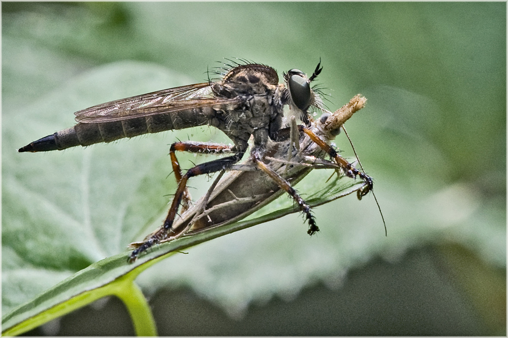
<svg viewBox="0 0 508 338"><path fill-rule="evenodd" d="M355 189L348 190L347 193L356 190L358 198L361 199L371 191L372 179L358 172L353 164L338 155L330 142L335 139L340 128L343 128L344 122L362 109L365 102L365 97L356 95L347 105L334 113L326 112L321 118L312 121L309 127L292 125L298 130L297 140L269 142L263 163L274 173L272 175L278 176L278 179L273 179L272 176L270 176L272 179L267 179L266 171L260 169L259 162L252 157L229 168L231 172L224 179L221 179L224 173L222 171L208 193L184 212L174 222L169 232L161 227L146 236L142 242L131 243L131 247L136 249L130 259L137 257L136 250L155 239L157 243L164 243L182 235L231 224L261 209L284 193L288 193L296 202L298 209L305 214L308 205L292 186L313 169L332 168L348 177L360 176L362 180L354 185ZM291 154L290 161L288 152ZM331 160L325 159L328 156ZM319 231L317 225L310 224L308 233L313 234L317 231Z"/></svg>

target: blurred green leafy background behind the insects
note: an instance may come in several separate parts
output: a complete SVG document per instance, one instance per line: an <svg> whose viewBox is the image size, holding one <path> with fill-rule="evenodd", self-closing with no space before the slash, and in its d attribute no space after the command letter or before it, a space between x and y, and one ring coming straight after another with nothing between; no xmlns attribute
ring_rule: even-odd
<svg viewBox="0 0 508 338"><path fill-rule="evenodd" d="M16 149L225 57L279 76L321 57L330 110L368 98L347 130L388 237L348 196L316 208L316 238L290 215L192 248L138 279L161 335L506 334L505 3L2 3L4 313L160 224L177 137L228 141ZM29 333L133 331L110 299Z"/></svg>

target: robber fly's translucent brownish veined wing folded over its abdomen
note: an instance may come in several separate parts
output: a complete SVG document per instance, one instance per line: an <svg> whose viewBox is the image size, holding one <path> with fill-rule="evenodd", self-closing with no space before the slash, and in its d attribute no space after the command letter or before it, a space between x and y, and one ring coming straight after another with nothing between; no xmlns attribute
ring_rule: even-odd
<svg viewBox="0 0 508 338"><path fill-rule="evenodd" d="M122 98L80 110L74 115L78 122L103 123L239 102L240 98L213 96L206 82Z"/></svg>

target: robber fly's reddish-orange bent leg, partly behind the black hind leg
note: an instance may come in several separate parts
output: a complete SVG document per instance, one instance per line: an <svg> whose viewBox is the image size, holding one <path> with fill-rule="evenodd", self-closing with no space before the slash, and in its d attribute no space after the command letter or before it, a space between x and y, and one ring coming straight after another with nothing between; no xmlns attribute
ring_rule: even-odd
<svg viewBox="0 0 508 338"><path fill-rule="evenodd" d="M175 142L171 145L169 150L169 155L171 156L171 165L173 166L173 172L175 173L176 183L179 183L182 179L182 171L180 169L180 164L176 158L175 151L188 151L191 153L199 153L199 154L222 154L226 152L231 152L231 146L224 144L215 144L215 143L195 143L195 142ZM189 209L190 207L190 193L185 187L182 197L182 211Z"/></svg>

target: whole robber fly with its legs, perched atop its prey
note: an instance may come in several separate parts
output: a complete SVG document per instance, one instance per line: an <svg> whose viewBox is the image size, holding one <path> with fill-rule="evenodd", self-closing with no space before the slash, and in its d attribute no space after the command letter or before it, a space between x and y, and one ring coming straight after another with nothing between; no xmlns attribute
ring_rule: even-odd
<svg viewBox="0 0 508 338"><path fill-rule="evenodd" d="M291 128L285 126L283 120L286 106L289 107L288 115L303 122L298 127L300 133L308 134L313 142L322 147L329 147L319 137L315 137L314 133L309 133L308 129L312 121L310 111L324 111L320 91L315 86L310 86L323 70L321 61L310 77L292 69L283 74L284 82L280 84L277 72L270 66L244 60L231 63L209 72L221 76L216 81L209 79L205 83L133 96L78 111L75 113L78 122L75 126L31 142L18 151L63 150L132 138L145 133L200 125L214 126L233 141L233 146L196 142L177 142L171 145L171 163L178 182L172 205L162 228L132 252L130 261L136 260L140 253L172 234L172 225L180 205L183 210L190 205L188 179L228 170L241 160L251 137L253 146L250 159L259 170L295 198L300 210L306 215L308 232L312 234L319 229L310 213L310 207L291 185L287 186L280 175L273 173L264 163L264 159L269 142L281 142L290 138ZM233 155L196 165L182 175L176 151ZM329 154L333 155L333 152L330 151ZM369 176L359 172L343 159L337 161L347 176L359 176L365 182L362 195L372 189L372 179Z"/></svg>

